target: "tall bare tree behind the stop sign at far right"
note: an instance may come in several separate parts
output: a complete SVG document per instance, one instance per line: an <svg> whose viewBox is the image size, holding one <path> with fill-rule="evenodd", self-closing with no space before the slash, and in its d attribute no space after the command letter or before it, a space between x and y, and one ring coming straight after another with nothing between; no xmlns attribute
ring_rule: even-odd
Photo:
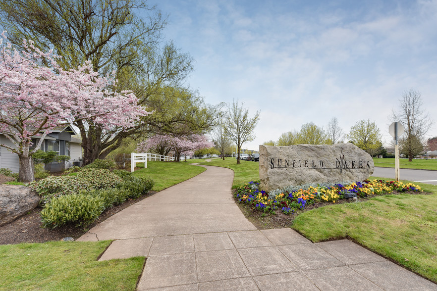
<svg viewBox="0 0 437 291"><path fill-rule="evenodd" d="M405 91L399 100L399 111L393 110L391 119L398 121L405 127L403 148L408 152L408 161L412 161L417 154L417 144L423 144L423 139L434 121L423 109L423 101L419 91Z"/></svg>

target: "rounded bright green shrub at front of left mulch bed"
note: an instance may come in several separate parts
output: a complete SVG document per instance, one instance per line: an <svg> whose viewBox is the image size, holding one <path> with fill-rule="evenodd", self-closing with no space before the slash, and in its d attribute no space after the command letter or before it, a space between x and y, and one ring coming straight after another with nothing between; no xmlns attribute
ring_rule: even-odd
<svg viewBox="0 0 437 291"><path fill-rule="evenodd" d="M59 196L41 211L43 226L56 228L66 224L87 226L103 212L104 198L97 195L71 194Z"/></svg>

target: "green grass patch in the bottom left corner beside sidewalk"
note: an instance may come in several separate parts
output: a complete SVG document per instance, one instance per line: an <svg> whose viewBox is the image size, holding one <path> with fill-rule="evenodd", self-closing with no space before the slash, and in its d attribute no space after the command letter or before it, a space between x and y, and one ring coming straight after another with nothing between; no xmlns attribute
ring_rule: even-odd
<svg viewBox="0 0 437 291"><path fill-rule="evenodd" d="M0 290L135 290L145 258L98 262L109 243L0 245Z"/></svg>

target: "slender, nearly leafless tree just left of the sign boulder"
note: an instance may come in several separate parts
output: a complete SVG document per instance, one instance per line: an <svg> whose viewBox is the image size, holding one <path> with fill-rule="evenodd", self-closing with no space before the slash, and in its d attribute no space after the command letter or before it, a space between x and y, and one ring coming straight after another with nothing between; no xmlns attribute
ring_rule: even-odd
<svg viewBox="0 0 437 291"><path fill-rule="evenodd" d="M237 164L240 163L240 149L245 142L255 139L254 130L260 119L260 111L253 118L249 117L249 110L243 109L244 102L238 105L238 100L228 106L227 118L224 122L224 132L237 145Z"/></svg>

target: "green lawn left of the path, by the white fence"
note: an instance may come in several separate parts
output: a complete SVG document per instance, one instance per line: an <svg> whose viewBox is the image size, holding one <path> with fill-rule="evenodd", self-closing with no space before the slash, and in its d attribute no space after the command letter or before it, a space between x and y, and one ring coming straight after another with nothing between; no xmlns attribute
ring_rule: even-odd
<svg viewBox="0 0 437 291"><path fill-rule="evenodd" d="M204 161L204 160L202 160ZM199 175L205 168L190 165L185 162L147 162L147 168L144 169L144 163L138 163L137 167L143 167L134 172L136 177L151 177L155 182L154 191L161 191L175 184L193 178Z"/></svg>

